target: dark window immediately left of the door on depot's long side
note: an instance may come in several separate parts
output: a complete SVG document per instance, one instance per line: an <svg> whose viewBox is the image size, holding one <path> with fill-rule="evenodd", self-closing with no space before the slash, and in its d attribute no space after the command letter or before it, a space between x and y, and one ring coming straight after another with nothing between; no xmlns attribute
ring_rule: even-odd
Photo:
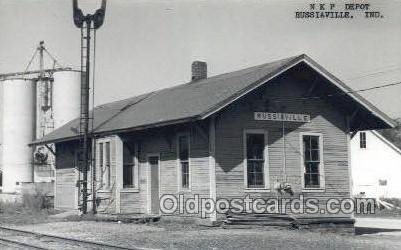
<svg viewBox="0 0 401 250"><path fill-rule="evenodd" d="M123 188L135 187L135 151L134 146L123 142Z"/></svg>

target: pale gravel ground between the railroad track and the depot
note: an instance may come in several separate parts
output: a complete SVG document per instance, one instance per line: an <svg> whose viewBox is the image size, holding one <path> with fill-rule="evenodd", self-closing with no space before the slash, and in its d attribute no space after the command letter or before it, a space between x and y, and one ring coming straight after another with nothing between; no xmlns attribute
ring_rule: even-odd
<svg viewBox="0 0 401 250"><path fill-rule="evenodd" d="M163 249L401 249L400 234L342 236L286 229L222 229L191 223L52 222L16 226L109 244Z"/></svg>

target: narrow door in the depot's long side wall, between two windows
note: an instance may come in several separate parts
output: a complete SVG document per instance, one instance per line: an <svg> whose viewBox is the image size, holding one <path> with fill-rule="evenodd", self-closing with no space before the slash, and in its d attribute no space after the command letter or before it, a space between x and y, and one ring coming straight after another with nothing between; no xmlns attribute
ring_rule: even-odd
<svg viewBox="0 0 401 250"><path fill-rule="evenodd" d="M150 212L159 214L159 156L148 156L150 184Z"/></svg>

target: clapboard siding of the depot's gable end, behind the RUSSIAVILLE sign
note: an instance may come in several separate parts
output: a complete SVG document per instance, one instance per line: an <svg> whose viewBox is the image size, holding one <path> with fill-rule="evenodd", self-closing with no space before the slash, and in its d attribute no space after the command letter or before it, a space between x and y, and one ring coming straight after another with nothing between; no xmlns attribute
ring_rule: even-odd
<svg viewBox="0 0 401 250"><path fill-rule="evenodd" d="M244 129L264 129L268 133L268 171L270 192L250 192L254 197L274 198L274 182L288 182L294 197L304 194L324 202L329 198L349 198L349 173L345 115L322 99L301 100L309 89L307 82L290 77L273 80L224 109L216 117L217 198L244 197ZM285 123L286 173L283 174L282 122L255 121L254 112L302 113L309 123ZM325 188L322 192L304 192L302 187L300 132L323 135ZM288 195L284 195L289 197ZM279 195L280 197L280 195ZM322 203L323 204L323 203Z"/></svg>

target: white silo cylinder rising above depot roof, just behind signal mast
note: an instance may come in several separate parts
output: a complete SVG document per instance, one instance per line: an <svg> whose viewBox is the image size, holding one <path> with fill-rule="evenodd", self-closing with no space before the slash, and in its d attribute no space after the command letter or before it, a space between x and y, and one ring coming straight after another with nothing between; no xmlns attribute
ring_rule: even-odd
<svg viewBox="0 0 401 250"><path fill-rule="evenodd" d="M81 73L59 71L53 74L53 119L57 129L79 117L81 96Z"/></svg>

